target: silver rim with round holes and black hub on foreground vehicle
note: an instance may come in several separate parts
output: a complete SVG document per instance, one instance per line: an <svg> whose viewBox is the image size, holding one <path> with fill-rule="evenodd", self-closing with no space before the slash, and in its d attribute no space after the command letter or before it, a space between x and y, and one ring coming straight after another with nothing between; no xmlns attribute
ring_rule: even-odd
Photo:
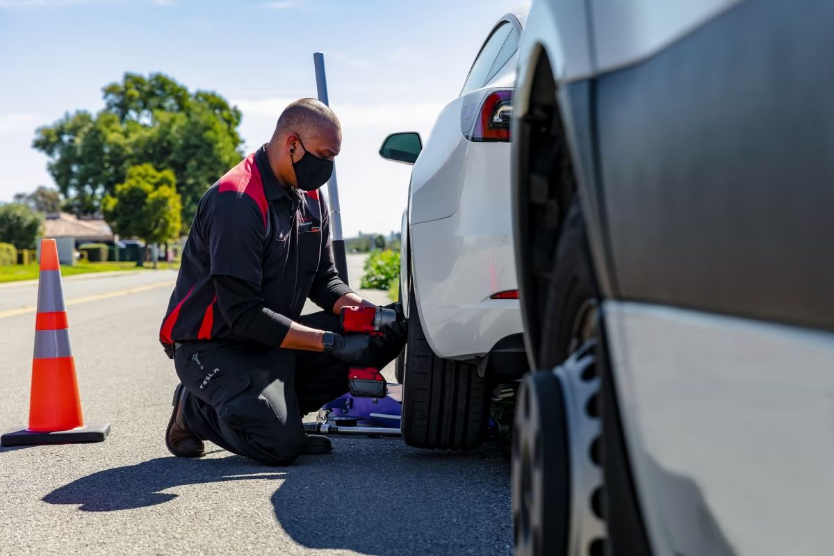
<svg viewBox="0 0 834 556"><path fill-rule="evenodd" d="M602 556L600 379L589 342L521 385L512 444L515 553Z"/></svg>

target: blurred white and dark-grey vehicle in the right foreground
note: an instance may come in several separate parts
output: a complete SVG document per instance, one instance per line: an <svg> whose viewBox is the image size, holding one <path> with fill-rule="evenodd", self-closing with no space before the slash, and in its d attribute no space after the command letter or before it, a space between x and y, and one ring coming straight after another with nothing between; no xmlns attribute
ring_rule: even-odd
<svg viewBox="0 0 834 556"><path fill-rule="evenodd" d="M834 554L834 3L536 0L515 553Z"/></svg>

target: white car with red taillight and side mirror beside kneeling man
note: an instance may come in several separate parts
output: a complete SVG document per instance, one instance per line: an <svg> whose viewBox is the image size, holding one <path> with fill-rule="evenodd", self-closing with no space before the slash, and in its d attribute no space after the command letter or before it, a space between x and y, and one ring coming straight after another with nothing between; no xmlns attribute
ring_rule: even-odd
<svg viewBox="0 0 834 556"><path fill-rule="evenodd" d="M493 388L527 370L510 220L510 102L528 9L495 24L425 147L417 133L394 133L379 150L414 164L400 263L409 342L398 369L403 436L413 446L474 448Z"/></svg>

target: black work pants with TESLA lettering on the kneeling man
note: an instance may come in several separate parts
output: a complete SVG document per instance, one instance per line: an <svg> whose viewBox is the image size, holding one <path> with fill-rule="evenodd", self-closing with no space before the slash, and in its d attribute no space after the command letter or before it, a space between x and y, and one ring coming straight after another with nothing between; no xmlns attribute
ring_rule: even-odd
<svg viewBox="0 0 834 556"><path fill-rule="evenodd" d="M339 317L299 318L335 332ZM379 368L389 361L379 361ZM268 465L291 463L304 449L305 413L348 391L349 364L324 353L252 344L194 342L174 353L185 424L203 440Z"/></svg>

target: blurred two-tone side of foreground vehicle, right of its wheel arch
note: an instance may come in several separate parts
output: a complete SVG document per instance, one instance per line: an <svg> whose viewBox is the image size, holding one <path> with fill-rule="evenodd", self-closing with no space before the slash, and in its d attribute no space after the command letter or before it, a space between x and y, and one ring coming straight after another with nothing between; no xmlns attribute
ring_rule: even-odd
<svg viewBox="0 0 834 556"><path fill-rule="evenodd" d="M655 551L830 553L834 5L590 1L606 325Z"/></svg>

